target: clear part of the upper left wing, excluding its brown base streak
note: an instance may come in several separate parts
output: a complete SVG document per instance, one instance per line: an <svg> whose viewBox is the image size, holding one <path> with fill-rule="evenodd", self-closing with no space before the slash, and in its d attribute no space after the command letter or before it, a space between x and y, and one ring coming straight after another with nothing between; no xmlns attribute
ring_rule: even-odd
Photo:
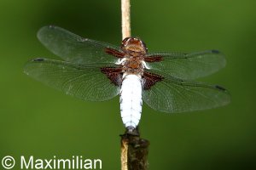
<svg viewBox="0 0 256 170"><path fill-rule="evenodd" d="M119 50L116 46L79 37L57 26L41 28L38 39L49 51L72 63L105 65L118 60L105 52L106 48Z"/></svg>

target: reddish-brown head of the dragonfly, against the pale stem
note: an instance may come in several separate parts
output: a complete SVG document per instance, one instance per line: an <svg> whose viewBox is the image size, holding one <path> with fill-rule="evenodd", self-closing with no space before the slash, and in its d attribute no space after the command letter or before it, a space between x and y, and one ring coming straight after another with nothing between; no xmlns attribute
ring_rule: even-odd
<svg viewBox="0 0 256 170"><path fill-rule="evenodd" d="M125 37L122 41L121 49L128 54L147 54L146 44L137 37Z"/></svg>

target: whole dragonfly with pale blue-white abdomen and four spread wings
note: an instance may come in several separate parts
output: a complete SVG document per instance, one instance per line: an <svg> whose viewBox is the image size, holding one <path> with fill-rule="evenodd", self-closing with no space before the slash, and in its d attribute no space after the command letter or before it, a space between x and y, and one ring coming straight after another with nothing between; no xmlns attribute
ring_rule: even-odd
<svg viewBox="0 0 256 170"><path fill-rule="evenodd" d="M218 50L196 53L149 53L137 37L120 47L80 37L57 26L44 26L38 39L62 60L28 61L25 73L50 87L86 101L119 95L120 115L129 132L141 119L143 102L155 111L201 111L230 103L230 93L218 85L195 82L221 68Z"/></svg>

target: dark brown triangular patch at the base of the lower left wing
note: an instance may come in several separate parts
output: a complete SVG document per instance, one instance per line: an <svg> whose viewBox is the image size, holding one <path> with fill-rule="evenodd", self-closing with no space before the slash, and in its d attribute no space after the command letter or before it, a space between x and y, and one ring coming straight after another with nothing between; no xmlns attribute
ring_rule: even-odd
<svg viewBox="0 0 256 170"><path fill-rule="evenodd" d="M114 67L103 67L101 68L102 73L104 73L108 79L113 82L114 85L120 86L122 84L122 68Z"/></svg>

